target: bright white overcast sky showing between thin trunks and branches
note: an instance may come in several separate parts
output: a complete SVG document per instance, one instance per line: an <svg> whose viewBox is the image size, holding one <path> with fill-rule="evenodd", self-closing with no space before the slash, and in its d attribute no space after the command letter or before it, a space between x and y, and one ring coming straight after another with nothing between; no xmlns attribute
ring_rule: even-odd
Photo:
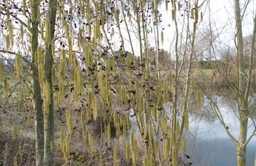
<svg viewBox="0 0 256 166"><path fill-rule="evenodd" d="M202 0L200 0L202 2ZM246 12L244 14L243 18L243 36L248 36L252 34L252 28L253 28L253 16L256 10L256 2L255 0L249 0L250 3L248 4L248 7L246 8ZM247 2L247 0L241 0L241 9L244 9L244 3ZM223 45L230 45L234 46L234 34L235 34L235 14L234 14L234 1L233 0L209 0L210 4L210 12L211 12L211 26L215 33L220 33L220 40ZM175 35L175 27L172 22L172 9L171 3L169 3L168 7L169 11L165 10L165 4L160 7L160 13L163 14L160 27L159 27L159 40L161 40L161 29L164 28L164 44L162 45L161 41L159 44L159 49L164 50L173 50L173 37ZM205 10L205 8L203 8ZM202 33L203 29L209 29L209 6L207 6L206 10L203 11L204 13L204 20L200 23L200 26L198 27L198 31L196 34ZM177 12L177 18L180 18L180 13ZM179 21L178 21L179 22ZM168 26L170 24L170 27ZM178 23L179 24L179 23ZM122 32L126 31L124 23L121 26ZM218 29L218 31L216 31ZM131 33L132 36L132 44L134 47L135 54L139 54L140 47L138 47L138 40L136 38L136 34ZM123 34L124 38L128 40L127 34ZM149 43L150 46L154 47L154 33L150 35ZM119 42L120 39L114 40L116 48L119 48ZM126 43L125 49L131 51L131 47L129 43Z"/></svg>

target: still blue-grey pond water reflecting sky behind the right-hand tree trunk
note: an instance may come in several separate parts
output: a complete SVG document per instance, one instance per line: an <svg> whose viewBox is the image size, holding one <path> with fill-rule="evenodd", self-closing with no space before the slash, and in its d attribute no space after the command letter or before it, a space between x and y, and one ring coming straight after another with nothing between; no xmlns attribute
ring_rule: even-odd
<svg viewBox="0 0 256 166"><path fill-rule="evenodd" d="M255 98L252 98L255 104ZM193 165L212 166L234 166L236 161L236 146L229 139L224 126L221 126L218 119L214 118L214 111L205 98L203 116L197 114L189 118L188 133L188 154L192 155ZM228 126L228 130L236 139L239 135L239 120L234 113L236 104L230 103L221 96L216 96L216 101L220 107L223 119ZM248 136L253 132L252 119L249 120ZM195 141L195 146L193 143ZM193 151L193 153L192 153ZM256 151L256 137L250 140L246 150L246 165L254 165ZM192 154L191 154L192 153Z"/></svg>

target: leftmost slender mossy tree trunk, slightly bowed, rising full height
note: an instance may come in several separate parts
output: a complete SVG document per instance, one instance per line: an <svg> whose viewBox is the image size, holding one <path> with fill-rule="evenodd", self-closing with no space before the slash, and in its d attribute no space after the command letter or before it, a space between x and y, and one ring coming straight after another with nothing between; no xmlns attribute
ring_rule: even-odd
<svg viewBox="0 0 256 166"><path fill-rule="evenodd" d="M38 68L35 64L35 54L38 47L37 13L39 4L34 1L32 6L32 29L31 29L31 73L33 89L33 108L35 110L36 129L36 165L44 165L44 112L42 109L41 88L38 80Z"/></svg>

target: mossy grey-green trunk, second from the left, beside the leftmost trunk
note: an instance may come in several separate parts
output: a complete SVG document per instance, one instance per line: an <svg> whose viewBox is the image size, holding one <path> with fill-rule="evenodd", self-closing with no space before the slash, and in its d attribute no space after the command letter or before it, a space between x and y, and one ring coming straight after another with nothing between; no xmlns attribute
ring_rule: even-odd
<svg viewBox="0 0 256 166"><path fill-rule="evenodd" d="M56 0L49 1L49 33L51 34L49 41L45 43L45 59L44 72L45 84L49 84L49 92L51 95L50 103L45 102L45 146L44 158L45 165L54 165L54 100L53 100L53 82L52 82L52 45L54 41L54 27L56 22ZM47 35L47 34L46 34ZM46 90L46 89L45 89ZM45 96L47 98L47 96Z"/></svg>

